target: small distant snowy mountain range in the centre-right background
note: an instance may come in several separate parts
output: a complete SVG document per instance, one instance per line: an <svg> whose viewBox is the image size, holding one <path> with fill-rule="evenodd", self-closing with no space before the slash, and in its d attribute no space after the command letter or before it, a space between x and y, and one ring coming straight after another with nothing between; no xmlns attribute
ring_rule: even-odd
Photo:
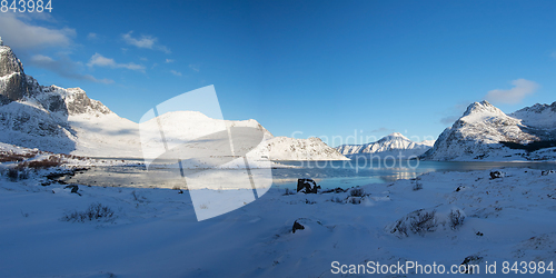
<svg viewBox="0 0 556 278"><path fill-rule="evenodd" d="M411 156L420 156L429 150L434 141L415 142L403 136L394 132L389 136L380 138L376 142L365 145L341 145L336 149L344 156L361 156L371 155L374 157L396 157L408 158Z"/></svg>

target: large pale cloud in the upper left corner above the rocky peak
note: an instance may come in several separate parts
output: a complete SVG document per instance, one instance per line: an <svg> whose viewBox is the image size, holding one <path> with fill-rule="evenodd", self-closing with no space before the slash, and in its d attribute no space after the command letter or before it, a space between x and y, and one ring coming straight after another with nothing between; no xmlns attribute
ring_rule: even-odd
<svg viewBox="0 0 556 278"><path fill-rule="evenodd" d="M73 41L76 30L70 28L52 29L33 24L30 18L2 12L0 37L6 46L14 49L40 49L47 47L67 48Z"/></svg>

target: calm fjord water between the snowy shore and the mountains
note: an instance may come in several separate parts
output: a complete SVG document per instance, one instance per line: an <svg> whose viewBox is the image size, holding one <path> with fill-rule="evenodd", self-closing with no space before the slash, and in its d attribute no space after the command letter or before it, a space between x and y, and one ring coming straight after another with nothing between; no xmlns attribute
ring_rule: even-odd
<svg viewBox="0 0 556 278"><path fill-rule="evenodd" d="M116 159L121 160L121 159ZM322 188L350 188L368 183L411 179L433 171L471 171L500 168L556 170L555 162L487 162L487 161L424 161L424 160L346 160L346 161L280 161L289 168L272 169L272 187L292 189L298 178L315 179ZM245 171L232 170L232 171ZM251 169L257 175L257 169ZM87 186L147 187L187 189L176 169L145 167L92 167L69 177L66 182Z"/></svg>

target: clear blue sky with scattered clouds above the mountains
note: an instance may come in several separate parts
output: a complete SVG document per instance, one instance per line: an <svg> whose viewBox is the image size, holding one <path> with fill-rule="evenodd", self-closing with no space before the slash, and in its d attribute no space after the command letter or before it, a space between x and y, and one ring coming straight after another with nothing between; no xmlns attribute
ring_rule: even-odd
<svg viewBox="0 0 556 278"><path fill-rule="evenodd" d="M436 138L473 101L556 101L554 1L62 1L2 13L41 85L139 121L214 85L224 117L275 136ZM497 90L497 91L494 91ZM361 140L363 138L363 140Z"/></svg>

